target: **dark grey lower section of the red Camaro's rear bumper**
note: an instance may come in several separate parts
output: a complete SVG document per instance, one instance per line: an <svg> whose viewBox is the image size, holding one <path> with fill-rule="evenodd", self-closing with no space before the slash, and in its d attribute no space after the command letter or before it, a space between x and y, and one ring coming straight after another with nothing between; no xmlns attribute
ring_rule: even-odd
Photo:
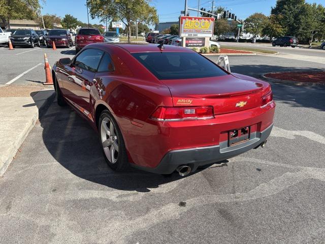
<svg viewBox="0 0 325 244"><path fill-rule="evenodd" d="M230 159L259 146L269 137L272 128L273 124L262 132L253 132L248 141L230 147L228 146L228 141L223 141L219 145L214 146L169 151L155 168L131 165L141 170L158 174L170 174L181 165L188 165L191 167L191 171L195 171L199 166Z"/></svg>

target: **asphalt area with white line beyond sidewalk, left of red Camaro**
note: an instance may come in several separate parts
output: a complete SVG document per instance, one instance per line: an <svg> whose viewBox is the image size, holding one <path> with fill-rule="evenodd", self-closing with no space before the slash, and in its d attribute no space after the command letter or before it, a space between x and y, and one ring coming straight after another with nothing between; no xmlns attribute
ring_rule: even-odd
<svg viewBox="0 0 325 244"><path fill-rule="evenodd" d="M72 57L75 47L57 48L56 51L41 46L32 48L16 47L8 50L8 47L0 47L0 84L6 84L25 71L28 73L15 80L13 84L37 85L45 81L44 53L47 54L50 65L61 57ZM73 54L73 55L72 55Z"/></svg>

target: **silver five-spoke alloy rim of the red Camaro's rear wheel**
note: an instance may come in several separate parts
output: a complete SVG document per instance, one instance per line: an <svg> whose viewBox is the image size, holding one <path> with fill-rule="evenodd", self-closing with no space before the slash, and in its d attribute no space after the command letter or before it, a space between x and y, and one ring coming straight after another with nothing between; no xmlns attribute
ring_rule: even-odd
<svg viewBox="0 0 325 244"><path fill-rule="evenodd" d="M104 153L110 163L115 164L118 160L118 136L112 121L105 117L101 124L101 141Z"/></svg>

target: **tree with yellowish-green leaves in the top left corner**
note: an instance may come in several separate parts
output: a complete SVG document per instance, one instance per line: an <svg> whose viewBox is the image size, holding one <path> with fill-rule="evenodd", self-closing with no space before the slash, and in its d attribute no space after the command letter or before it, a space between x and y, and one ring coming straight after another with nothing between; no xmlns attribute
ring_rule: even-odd
<svg viewBox="0 0 325 244"><path fill-rule="evenodd" d="M0 19L9 27L10 19L35 19L39 0L0 0Z"/></svg>

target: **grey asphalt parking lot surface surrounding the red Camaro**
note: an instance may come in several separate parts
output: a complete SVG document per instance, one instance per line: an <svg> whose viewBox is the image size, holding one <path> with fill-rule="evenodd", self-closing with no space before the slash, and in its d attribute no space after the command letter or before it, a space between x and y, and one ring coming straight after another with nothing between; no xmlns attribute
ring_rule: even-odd
<svg viewBox="0 0 325 244"><path fill-rule="evenodd" d="M0 48L1 84L43 64L45 50L50 65L74 52L16 55L28 50ZM230 56L230 64L254 77L324 69L276 56ZM13 84L44 77L40 65ZM184 178L112 171L98 135L53 101L0 178L0 243L325 243L325 86L272 89L267 146Z"/></svg>

